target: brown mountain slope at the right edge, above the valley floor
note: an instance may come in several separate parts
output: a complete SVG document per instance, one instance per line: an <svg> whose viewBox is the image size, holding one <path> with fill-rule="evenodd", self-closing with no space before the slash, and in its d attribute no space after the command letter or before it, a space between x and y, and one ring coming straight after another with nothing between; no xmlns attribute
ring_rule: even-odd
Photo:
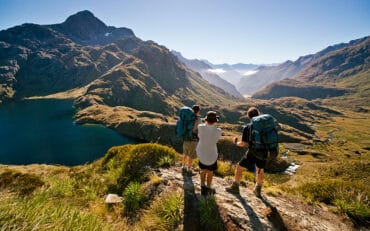
<svg viewBox="0 0 370 231"><path fill-rule="evenodd" d="M369 92L370 37L328 47L297 70L293 79L272 83L253 97L314 99Z"/></svg>

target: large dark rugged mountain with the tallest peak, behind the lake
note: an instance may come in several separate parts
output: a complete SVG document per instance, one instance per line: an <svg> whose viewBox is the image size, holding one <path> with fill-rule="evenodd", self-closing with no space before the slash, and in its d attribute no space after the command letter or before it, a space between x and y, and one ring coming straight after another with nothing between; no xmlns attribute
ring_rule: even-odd
<svg viewBox="0 0 370 231"><path fill-rule="evenodd" d="M86 88L78 107L127 105L172 115L183 104L222 105L233 97L184 66L166 47L89 11L55 25L0 31L0 101Z"/></svg>

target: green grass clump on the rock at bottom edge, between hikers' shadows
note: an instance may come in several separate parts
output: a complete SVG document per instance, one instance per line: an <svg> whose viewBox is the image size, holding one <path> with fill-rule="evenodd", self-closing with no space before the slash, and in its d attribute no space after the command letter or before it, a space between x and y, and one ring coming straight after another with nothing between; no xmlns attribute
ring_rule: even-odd
<svg viewBox="0 0 370 231"><path fill-rule="evenodd" d="M200 224L205 230L226 230L214 196L199 200Z"/></svg>

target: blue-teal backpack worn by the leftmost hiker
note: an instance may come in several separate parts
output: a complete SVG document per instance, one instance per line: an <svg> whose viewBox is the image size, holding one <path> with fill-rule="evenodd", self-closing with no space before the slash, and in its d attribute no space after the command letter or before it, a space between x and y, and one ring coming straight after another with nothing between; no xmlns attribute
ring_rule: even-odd
<svg viewBox="0 0 370 231"><path fill-rule="evenodd" d="M179 120L176 123L176 135L184 140L191 140L195 122L195 113L190 107L182 107L179 112Z"/></svg>

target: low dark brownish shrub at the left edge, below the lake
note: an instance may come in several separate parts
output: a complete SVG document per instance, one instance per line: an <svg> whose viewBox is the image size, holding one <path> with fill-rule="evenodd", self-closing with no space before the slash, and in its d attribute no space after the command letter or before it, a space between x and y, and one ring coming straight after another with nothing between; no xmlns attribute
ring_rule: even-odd
<svg viewBox="0 0 370 231"><path fill-rule="evenodd" d="M0 189L7 188L19 196L30 195L43 185L44 182L40 177L33 174L24 174L13 170L6 170L0 174Z"/></svg>

